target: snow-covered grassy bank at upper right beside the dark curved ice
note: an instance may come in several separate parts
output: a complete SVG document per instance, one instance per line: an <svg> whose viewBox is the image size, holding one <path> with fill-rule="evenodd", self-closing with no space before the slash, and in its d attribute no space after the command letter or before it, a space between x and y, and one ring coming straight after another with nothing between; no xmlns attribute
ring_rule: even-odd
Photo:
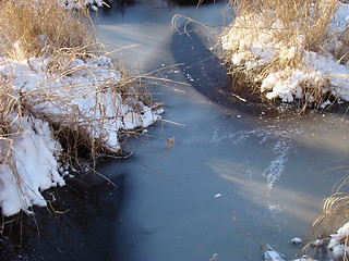
<svg viewBox="0 0 349 261"><path fill-rule="evenodd" d="M245 72L268 99L280 98L284 102L305 99L321 103L318 97L332 95L349 101L349 5L333 0L309 4L304 11L309 16L299 15L301 18L288 23L279 20L281 15L275 10L240 12L221 36L225 59L232 65L232 73L233 70ZM326 25L326 21L317 20L322 17L318 12L325 16L327 9L334 8L334 15L329 14L333 18L318 42L312 42L317 46L310 48L311 32L304 28L316 28L318 22ZM323 103L327 104L329 102Z"/></svg>

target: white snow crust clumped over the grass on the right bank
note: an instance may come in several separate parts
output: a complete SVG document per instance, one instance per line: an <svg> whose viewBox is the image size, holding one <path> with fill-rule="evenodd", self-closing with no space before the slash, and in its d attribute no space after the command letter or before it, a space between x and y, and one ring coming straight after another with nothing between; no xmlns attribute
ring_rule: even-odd
<svg viewBox="0 0 349 261"><path fill-rule="evenodd" d="M273 15L273 11L270 11ZM311 17L310 17L311 18ZM297 27L297 22L292 22ZM304 37L299 35L296 42L277 41L274 37L277 29L286 27L280 21L267 25L260 14L239 15L229 29L221 36L221 46L228 51L230 63L253 73L269 64L274 59L291 60L299 55L297 66L282 71L272 71L264 78L255 78L261 83L261 90L268 99L280 98L284 102L305 98L312 101L314 97L304 94L302 86L322 86L323 94L330 92L335 97L349 101L349 64L341 64L332 53L340 51L345 45L340 35L349 25L349 4L338 4L337 12L327 30L326 50L316 53L304 49ZM251 28L257 33L250 33Z"/></svg>

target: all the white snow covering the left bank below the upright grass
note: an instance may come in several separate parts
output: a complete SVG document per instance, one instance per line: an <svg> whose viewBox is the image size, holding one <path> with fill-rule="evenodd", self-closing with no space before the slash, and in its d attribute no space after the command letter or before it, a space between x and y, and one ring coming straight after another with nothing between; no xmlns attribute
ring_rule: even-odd
<svg viewBox="0 0 349 261"><path fill-rule="evenodd" d="M69 165L59 161L61 145L49 123L83 130L117 152L119 130L147 127L163 113L118 94L116 86L122 77L107 57L75 58L67 62L65 73L50 72L53 61L52 57L0 58L0 74L11 85L11 95L24 99L29 111L21 115L13 111L8 119L11 136L1 139L12 144L12 157L0 164L0 207L5 216L45 207L41 191L64 185ZM130 87L129 91L136 90Z"/></svg>

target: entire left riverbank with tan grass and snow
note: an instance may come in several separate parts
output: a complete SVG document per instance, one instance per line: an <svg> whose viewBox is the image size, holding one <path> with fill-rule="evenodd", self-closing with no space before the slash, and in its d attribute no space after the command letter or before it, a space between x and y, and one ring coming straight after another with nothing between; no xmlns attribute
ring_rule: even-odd
<svg viewBox="0 0 349 261"><path fill-rule="evenodd" d="M47 207L44 190L94 172L100 153L121 152L120 132L154 124L163 110L140 78L103 54L85 11L55 1L1 4L0 207L4 216L31 215Z"/></svg>

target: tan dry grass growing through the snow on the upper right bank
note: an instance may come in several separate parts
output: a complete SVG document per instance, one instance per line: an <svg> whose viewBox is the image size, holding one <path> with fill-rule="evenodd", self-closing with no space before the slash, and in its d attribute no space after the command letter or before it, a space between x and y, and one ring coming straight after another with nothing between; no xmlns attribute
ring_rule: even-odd
<svg viewBox="0 0 349 261"><path fill-rule="evenodd" d="M337 0L231 0L231 4L234 7L236 21L239 23L232 22L222 33L222 36L226 36L233 30L231 46L224 54L224 59L230 64L230 72L241 86L250 86L254 91L261 92L261 80L270 72L302 70L304 65L302 50L332 53L341 63L348 61L349 32L341 33L339 39L344 45L336 48L338 38L329 35L327 29L338 8ZM266 33L270 37L268 40L261 38ZM244 41L244 47L258 45L258 40L261 45L273 42L277 47L274 50L274 59L255 70L231 64L231 57L243 51L241 40ZM288 52L291 48L294 50L292 54ZM239 78L241 71L250 76ZM246 82L246 78L253 80ZM302 89L303 92L308 91L314 97L315 103L320 104L324 98L322 88L327 84L327 80L322 83L305 80ZM309 102L312 101L305 99L303 105L306 107Z"/></svg>

